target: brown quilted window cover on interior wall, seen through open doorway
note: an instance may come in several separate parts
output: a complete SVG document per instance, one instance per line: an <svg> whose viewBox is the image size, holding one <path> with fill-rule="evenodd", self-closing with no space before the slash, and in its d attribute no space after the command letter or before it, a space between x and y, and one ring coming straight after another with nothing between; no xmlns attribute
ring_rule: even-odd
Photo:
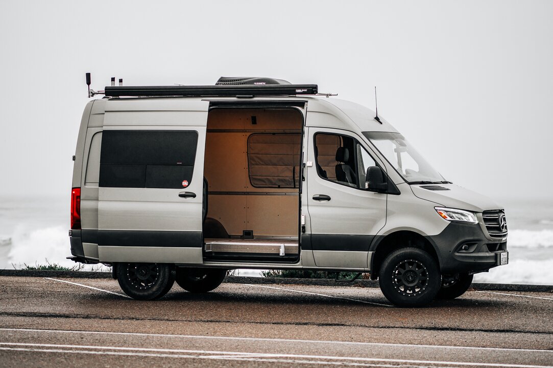
<svg viewBox="0 0 553 368"><path fill-rule="evenodd" d="M258 188L299 188L301 134L259 133L248 137L249 181Z"/></svg>

